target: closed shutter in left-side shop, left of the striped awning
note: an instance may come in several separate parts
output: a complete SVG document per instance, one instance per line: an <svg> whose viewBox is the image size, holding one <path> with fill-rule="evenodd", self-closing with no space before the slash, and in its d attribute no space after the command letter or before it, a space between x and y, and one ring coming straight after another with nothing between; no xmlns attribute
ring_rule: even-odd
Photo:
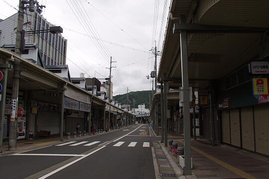
<svg viewBox="0 0 269 179"><path fill-rule="evenodd" d="M60 112L38 111L38 131L50 131L50 134L60 133Z"/></svg>

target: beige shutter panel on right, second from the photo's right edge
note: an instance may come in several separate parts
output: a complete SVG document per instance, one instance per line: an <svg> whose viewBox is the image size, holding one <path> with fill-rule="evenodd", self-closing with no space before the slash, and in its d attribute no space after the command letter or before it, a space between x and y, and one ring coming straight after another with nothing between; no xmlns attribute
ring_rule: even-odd
<svg viewBox="0 0 269 179"><path fill-rule="evenodd" d="M241 108L242 148L255 151L252 106Z"/></svg>

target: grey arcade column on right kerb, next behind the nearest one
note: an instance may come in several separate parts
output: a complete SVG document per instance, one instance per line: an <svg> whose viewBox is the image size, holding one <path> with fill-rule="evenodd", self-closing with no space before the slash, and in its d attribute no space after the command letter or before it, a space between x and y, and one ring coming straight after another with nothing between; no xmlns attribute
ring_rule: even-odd
<svg viewBox="0 0 269 179"><path fill-rule="evenodd" d="M166 77L166 74L163 74ZM167 147L167 81L163 81L163 126L164 146Z"/></svg>

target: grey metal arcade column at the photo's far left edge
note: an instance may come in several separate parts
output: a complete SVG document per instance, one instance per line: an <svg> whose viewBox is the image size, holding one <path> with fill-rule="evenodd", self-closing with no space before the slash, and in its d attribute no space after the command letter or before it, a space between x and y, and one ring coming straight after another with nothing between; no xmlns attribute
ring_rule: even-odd
<svg viewBox="0 0 269 179"><path fill-rule="evenodd" d="M1 68L3 73L2 77L2 91L1 91L1 104L0 104L0 153L3 152L3 122L4 122L4 109L5 109L5 94L6 94L6 85L7 85L7 68L8 68L8 60L5 59L5 63L2 65L6 65L6 67Z"/></svg>

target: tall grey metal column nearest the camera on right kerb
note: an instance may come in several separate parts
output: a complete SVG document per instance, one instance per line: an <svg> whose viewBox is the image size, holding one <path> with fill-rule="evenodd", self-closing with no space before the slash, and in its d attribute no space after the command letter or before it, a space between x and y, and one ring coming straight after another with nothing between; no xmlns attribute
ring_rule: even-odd
<svg viewBox="0 0 269 179"><path fill-rule="evenodd" d="M184 18L184 17L183 17ZM180 17L182 23L182 16ZM184 126L184 175L191 175L191 148L190 148L190 101L189 101L189 74L187 32L180 31L181 73L183 90L183 126Z"/></svg>

